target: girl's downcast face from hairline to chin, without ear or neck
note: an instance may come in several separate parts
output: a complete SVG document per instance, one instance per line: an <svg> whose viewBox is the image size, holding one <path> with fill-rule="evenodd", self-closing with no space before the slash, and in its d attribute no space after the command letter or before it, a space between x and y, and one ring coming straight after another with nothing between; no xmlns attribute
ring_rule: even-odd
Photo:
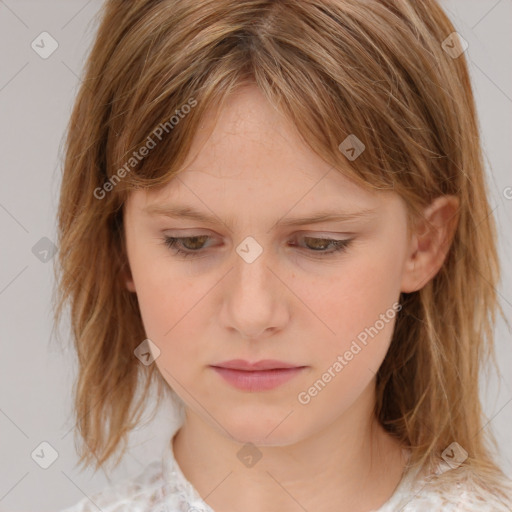
<svg viewBox="0 0 512 512"><path fill-rule="evenodd" d="M256 88L233 97L210 138L204 128L183 172L125 205L127 286L154 364L190 411L240 442L286 445L352 406L371 411L406 275L405 204L332 169ZM307 220L327 214L340 218ZM214 368L233 359L302 368L240 388Z"/></svg>

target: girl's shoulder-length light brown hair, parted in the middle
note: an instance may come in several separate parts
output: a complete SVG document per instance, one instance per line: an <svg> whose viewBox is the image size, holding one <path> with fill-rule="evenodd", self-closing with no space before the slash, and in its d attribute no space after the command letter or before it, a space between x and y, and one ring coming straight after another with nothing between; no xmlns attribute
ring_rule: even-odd
<svg viewBox="0 0 512 512"><path fill-rule="evenodd" d="M410 225L436 197L458 198L442 268L400 296L375 415L410 448L411 464L426 467L456 441L469 455L463 465L497 486L503 472L479 399L481 364L492 359L497 369L496 311L504 317L496 228L466 58L444 51L455 29L438 3L108 0L99 15L67 128L58 210L55 319L69 303L76 431L87 445L80 462L99 468L121 444L124 453L151 385L158 404L169 391L156 365L134 356L146 335L122 278L125 200L175 177L204 114L256 85L337 172L400 195ZM365 145L353 161L339 149L350 134ZM135 159L150 139L154 147Z"/></svg>

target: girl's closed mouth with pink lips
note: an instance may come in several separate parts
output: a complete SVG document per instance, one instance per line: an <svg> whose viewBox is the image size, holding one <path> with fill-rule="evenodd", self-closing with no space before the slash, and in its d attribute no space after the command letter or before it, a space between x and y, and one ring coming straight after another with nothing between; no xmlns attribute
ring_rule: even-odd
<svg viewBox="0 0 512 512"><path fill-rule="evenodd" d="M231 386L242 391L268 391L301 373L307 366L266 359L250 363L240 359L226 361L211 368Z"/></svg>

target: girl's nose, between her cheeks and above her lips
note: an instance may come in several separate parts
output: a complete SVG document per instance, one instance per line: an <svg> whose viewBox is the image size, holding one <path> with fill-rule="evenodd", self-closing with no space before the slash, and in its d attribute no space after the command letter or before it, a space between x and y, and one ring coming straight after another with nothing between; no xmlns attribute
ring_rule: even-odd
<svg viewBox="0 0 512 512"><path fill-rule="evenodd" d="M252 262L235 253L234 268L224 282L221 319L243 339L262 339L283 329L289 320L286 277L270 250Z"/></svg>

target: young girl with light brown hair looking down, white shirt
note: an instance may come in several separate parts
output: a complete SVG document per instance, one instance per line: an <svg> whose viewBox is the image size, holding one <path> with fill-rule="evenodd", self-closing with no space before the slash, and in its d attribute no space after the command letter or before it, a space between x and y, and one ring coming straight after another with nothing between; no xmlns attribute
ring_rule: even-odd
<svg viewBox="0 0 512 512"><path fill-rule="evenodd" d="M433 0L105 3L59 209L80 461L181 422L68 512L512 509L464 49Z"/></svg>

